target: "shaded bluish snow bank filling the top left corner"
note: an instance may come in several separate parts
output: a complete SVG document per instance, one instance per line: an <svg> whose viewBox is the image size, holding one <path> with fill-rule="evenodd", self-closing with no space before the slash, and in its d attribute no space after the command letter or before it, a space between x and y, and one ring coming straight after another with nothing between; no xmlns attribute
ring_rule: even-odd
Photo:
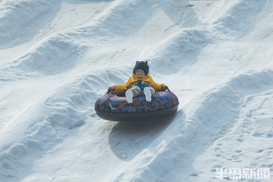
<svg viewBox="0 0 273 182"><path fill-rule="evenodd" d="M2 43L0 48L9 46L24 36L31 36L29 31L34 34L37 29L33 28L37 25L39 27L42 22L37 20L48 16L49 11L54 12L52 10L54 6L59 6L59 2L52 0L1 1L0 42Z"/></svg>

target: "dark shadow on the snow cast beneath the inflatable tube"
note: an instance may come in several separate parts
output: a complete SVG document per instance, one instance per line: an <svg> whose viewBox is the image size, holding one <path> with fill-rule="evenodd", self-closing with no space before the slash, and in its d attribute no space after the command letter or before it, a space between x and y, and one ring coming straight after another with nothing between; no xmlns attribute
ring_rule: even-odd
<svg viewBox="0 0 273 182"><path fill-rule="evenodd" d="M184 112L179 110L173 116L160 120L117 122L108 138L112 152L121 160L132 160L156 140L178 114Z"/></svg>

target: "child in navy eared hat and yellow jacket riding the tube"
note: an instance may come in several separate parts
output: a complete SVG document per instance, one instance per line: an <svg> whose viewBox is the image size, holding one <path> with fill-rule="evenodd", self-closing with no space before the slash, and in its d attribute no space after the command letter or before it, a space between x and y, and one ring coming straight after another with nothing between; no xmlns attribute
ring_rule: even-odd
<svg viewBox="0 0 273 182"><path fill-rule="evenodd" d="M150 77L148 62L137 61L133 69L132 76L123 85L110 86L111 91L122 91L125 88L130 88L126 91L125 96L128 103L133 102L133 98L137 96L145 96L146 101L151 101L155 90L165 90L168 86L163 83L155 83Z"/></svg>

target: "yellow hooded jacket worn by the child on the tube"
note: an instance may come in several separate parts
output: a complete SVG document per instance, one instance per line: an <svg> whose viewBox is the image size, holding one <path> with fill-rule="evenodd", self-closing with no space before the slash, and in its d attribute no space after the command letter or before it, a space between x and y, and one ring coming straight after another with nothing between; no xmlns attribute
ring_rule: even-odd
<svg viewBox="0 0 273 182"><path fill-rule="evenodd" d="M113 85L114 91L122 91L124 89L131 88L132 86L137 85L143 88L145 86L152 86L155 90L162 90L163 83L155 83L148 72L147 76L136 76L132 72L132 76L129 77L128 81L123 85ZM141 86L142 85L142 86Z"/></svg>

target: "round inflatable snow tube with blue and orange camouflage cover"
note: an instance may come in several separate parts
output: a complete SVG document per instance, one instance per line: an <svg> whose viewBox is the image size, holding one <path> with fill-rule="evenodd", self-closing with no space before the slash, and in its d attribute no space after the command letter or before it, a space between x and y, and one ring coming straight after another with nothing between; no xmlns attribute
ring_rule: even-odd
<svg viewBox="0 0 273 182"><path fill-rule="evenodd" d="M156 91L150 102L145 97L136 97L136 101L127 103L124 92L107 95L112 108L125 104L120 109L112 109L106 95L96 101L96 114L109 121L143 121L169 117L176 113L179 105L177 96L170 91Z"/></svg>

